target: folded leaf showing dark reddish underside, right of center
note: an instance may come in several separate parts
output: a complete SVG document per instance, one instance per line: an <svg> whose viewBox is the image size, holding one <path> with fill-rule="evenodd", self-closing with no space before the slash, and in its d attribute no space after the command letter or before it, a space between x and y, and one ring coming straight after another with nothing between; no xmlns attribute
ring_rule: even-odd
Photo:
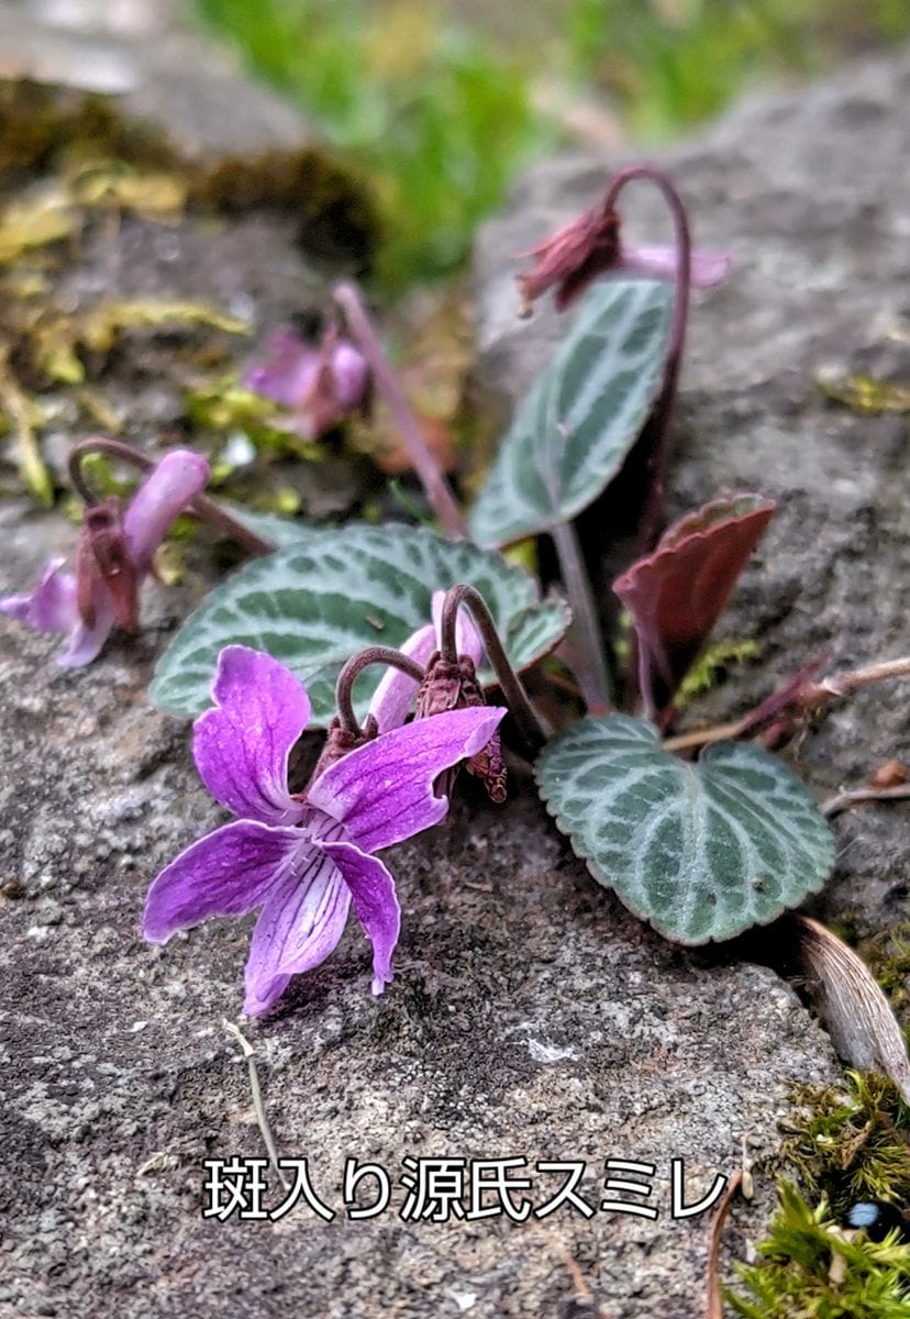
<svg viewBox="0 0 910 1319"><path fill-rule="evenodd" d="M684 678L773 512L757 495L712 500L613 582L634 623L649 708L662 708Z"/></svg>

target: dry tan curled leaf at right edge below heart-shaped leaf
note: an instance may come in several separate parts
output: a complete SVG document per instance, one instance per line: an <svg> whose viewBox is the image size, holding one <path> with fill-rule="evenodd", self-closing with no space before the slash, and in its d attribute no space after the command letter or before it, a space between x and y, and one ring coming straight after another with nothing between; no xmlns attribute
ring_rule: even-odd
<svg viewBox="0 0 910 1319"><path fill-rule="evenodd" d="M910 1059L903 1034L874 976L818 921L799 915L795 925L806 988L835 1049L860 1071L884 1072L910 1104Z"/></svg>

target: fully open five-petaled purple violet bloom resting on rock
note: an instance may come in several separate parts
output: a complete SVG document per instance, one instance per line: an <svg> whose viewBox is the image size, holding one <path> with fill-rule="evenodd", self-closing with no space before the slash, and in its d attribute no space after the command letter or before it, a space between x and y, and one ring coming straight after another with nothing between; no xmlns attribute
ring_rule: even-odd
<svg viewBox="0 0 910 1319"><path fill-rule="evenodd" d="M247 962L252 1016L291 976L324 962L353 905L373 946L373 993L382 993L401 915L394 880L372 853L439 823L448 799L434 783L481 751L505 710L455 710L380 733L293 795L288 758L310 719L299 679L269 654L227 646L212 696L215 708L195 721L193 754L206 787L237 819L158 874L145 938L165 943L210 917L261 907Z"/></svg>

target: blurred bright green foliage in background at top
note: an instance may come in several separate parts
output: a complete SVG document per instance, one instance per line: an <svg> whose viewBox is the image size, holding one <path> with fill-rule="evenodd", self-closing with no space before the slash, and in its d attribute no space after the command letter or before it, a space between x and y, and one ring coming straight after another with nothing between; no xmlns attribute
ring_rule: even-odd
<svg viewBox="0 0 910 1319"><path fill-rule="evenodd" d="M648 144L745 87L910 36L909 0L195 0L200 21L360 161L389 290L459 266L559 142Z"/></svg>

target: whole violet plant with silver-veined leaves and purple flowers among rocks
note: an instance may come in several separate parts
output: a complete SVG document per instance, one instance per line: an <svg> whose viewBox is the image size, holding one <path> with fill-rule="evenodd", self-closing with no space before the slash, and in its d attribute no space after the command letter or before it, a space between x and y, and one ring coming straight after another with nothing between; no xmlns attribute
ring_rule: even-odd
<svg viewBox="0 0 910 1319"><path fill-rule="evenodd" d="M670 247L628 239L624 200L633 187L658 193L673 223ZM791 677L756 708L724 725L678 731L681 710L691 710L717 662L743 658L754 645L744 637L732 650L711 649L721 612L774 516L774 503L760 492L706 491L700 508L666 525L690 288L711 288L729 274L725 253L695 248L690 230L675 183L655 166L632 164L607 179L592 207L529 253L533 264L520 277L517 315L551 291L557 309L567 309L567 328L518 406L471 508L438 460L368 301L351 281L334 289L314 342L289 331L272 340L268 359L248 368L245 400L229 390L231 406L218 392L198 398L211 417L219 405L227 406L223 415L236 417L241 404L253 408L251 396L264 398L281 410L269 414L269 423L284 425L298 445L314 445L380 397L435 524L262 520L226 509L200 489L181 492L178 508L227 530L252 561L187 619L158 661L150 695L165 710L197 716L197 737L226 702L248 702L257 714L244 756L252 765L262 761L264 777L260 782L253 774L240 797L214 793L231 810L241 803L237 826L227 828L252 831L257 845L247 839L219 851L218 831L181 853L153 884L146 933L165 939L208 915L261 907L249 1010L266 1010L290 976L323 960L340 938L348 902L371 938L379 921L375 983L390 981L398 930L394 881L373 857L375 848L361 848L353 860L347 852L344 861L324 859L338 848L356 848L356 840L344 842L356 803L327 795L326 785L349 786L357 765L381 774L386 753L389 783L398 782L402 739L430 745L440 720L451 723L455 715L475 716L485 735L476 745L462 737L458 753L448 747L408 780L406 790L390 794L402 819L381 835L388 845L442 819L462 768L508 809L508 758L521 757L533 762L541 798L591 874L637 917L686 946L733 939L799 907L823 888L835 864L828 816L869 795L895 797L894 786L873 783L819 809L775 752L810 716L863 687L909 677L907 657L872 656L860 667L826 673L816 657L795 656ZM185 307L183 314L193 321L199 313ZM96 311L90 344L107 351L123 319L123 309ZM84 339L84 324L79 332ZM26 434L28 415L20 413L21 451L32 460L34 435ZM90 447L144 470L154 466L149 455L113 441ZM86 503L74 586L79 620L92 625L91 592L100 580L106 607L117 604L108 609L107 629L120 623L129 630L141 575L135 570L148 572L150 554L148 562L132 562L129 512L124 549L117 506L96 499L82 479L87 456L78 447L71 464ZM591 520L582 514L629 468L638 472L629 496L638 543L612 583L607 608L595 570L608 546L592 538ZM601 536L609 539L609 528ZM555 586L533 571L545 541L558 566ZM504 553L510 546L524 546L518 562ZM7 598L4 608L42 627L47 619L30 609L33 599ZM620 605L628 624L615 633L604 620L619 615ZM96 650L78 652L79 660L88 662ZM224 677L237 669L237 657L245 657L240 667L247 674L240 694ZM261 810L280 780L288 795L276 747L262 732L272 727L266 707L274 683L262 677L266 671L281 674L284 690L298 692L294 699L306 707L298 733L305 723L328 729L309 798L285 803L281 820ZM534 699L524 673L533 674ZM257 694L260 683L264 694ZM496 727L484 723L489 708L499 712ZM206 757L197 760L206 778ZM281 839L269 832L274 830L285 831ZM266 856L268 864L261 860ZM162 893L177 904L167 919L156 915ZM368 897L379 902L379 915ZM844 1029L844 1053L881 1063L906 1095L906 1049L881 991L830 931L803 917L793 918L790 930L841 1025L849 1026L855 1009L860 1034L869 1037L870 1043Z"/></svg>

